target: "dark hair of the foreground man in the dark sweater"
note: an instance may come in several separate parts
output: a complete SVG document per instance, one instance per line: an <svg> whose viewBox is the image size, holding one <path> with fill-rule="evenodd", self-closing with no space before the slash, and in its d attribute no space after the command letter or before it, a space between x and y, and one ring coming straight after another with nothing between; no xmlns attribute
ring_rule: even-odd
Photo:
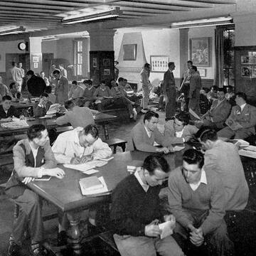
<svg viewBox="0 0 256 256"><path fill-rule="evenodd" d="M153 175L156 169L161 169L161 171L164 171L166 174L168 174L170 171L168 162L166 159L164 159L164 156L159 154L151 154L146 156L142 168L149 171L150 175Z"/></svg>

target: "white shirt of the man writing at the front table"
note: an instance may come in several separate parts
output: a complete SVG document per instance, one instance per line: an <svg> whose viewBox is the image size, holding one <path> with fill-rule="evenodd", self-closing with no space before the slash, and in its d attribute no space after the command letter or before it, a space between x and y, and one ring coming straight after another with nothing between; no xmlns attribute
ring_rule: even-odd
<svg viewBox="0 0 256 256"><path fill-rule="evenodd" d="M63 132L55 140L52 149L55 159L59 164L70 164L73 157L93 156L93 159L105 159L112 155L112 150L107 143L100 138L90 146L84 147L79 143L78 133L82 127L77 127L72 131Z"/></svg>

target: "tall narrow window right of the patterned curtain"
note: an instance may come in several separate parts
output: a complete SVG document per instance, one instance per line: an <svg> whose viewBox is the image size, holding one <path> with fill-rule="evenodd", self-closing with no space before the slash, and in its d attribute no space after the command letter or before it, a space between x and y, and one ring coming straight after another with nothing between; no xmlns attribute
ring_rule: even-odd
<svg viewBox="0 0 256 256"><path fill-rule="evenodd" d="M234 86L234 45L235 29L225 28L223 30L223 78L224 86Z"/></svg>

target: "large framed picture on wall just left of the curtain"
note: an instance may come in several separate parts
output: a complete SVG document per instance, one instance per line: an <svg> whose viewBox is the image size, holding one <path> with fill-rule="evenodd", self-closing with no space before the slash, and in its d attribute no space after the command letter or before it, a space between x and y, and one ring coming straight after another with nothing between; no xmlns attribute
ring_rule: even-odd
<svg viewBox="0 0 256 256"><path fill-rule="evenodd" d="M209 61L209 38L191 38L191 60L193 65L208 67Z"/></svg>

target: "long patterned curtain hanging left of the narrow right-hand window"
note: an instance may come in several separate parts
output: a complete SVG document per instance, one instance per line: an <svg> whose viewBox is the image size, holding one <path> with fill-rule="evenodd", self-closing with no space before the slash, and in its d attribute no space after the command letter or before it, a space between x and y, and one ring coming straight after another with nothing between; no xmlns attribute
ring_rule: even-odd
<svg viewBox="0 0 256 256"><path fill-rule="evenodd" d="M223 82L224 82L223 31L224 31L224 28L216 28L215 29L215 73L214 73L213 85L216 85L218 87L223 87Z"/></svg>

